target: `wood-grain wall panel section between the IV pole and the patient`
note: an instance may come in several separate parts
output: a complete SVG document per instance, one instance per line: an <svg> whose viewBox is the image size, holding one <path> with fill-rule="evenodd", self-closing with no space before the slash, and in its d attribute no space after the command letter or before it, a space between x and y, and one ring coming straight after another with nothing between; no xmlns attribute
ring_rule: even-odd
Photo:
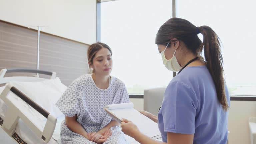
<svg viewBox="0 0 256 144"><path fill-rule="evenodd" d="M57 72L62 83L69 85L74 79L88 73L88 45L70 40L40 35L39 69Z"/></svg>

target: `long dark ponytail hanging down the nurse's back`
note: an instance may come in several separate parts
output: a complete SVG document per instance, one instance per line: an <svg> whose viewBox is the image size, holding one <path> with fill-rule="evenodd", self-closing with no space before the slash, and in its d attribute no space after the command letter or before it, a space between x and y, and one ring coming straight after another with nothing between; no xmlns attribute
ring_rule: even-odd
<svg viewBox="0 0 256 144"><path fill-rule="evenodd" d="M203 43L198 51L204 49L204 58L206 60L206 67L209 70L215 88L217 97L225 111L229 106L226 99L224 72L223 72L223 58L220 50L220 40L217 34L208 26L201 26L198 28L203 35Z"/></svg>

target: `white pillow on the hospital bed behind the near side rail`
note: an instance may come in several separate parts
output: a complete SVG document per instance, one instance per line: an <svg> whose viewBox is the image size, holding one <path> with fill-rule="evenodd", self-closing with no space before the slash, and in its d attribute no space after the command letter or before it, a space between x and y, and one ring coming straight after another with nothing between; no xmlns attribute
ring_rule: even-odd
<svg viewBox="0 0 256 144"><path fill-rule="evenodd" d="M47 112L51 113L54 117L58 118L63 115L62 112L55 106L55 103L58 101L67 87L61 83L58 77L40 82L13 81L9 83L44 108ZM21 99L19 100L22 101ZM34 108L31 107L31 109L40 120L46 120L46 118Z"/></svg>

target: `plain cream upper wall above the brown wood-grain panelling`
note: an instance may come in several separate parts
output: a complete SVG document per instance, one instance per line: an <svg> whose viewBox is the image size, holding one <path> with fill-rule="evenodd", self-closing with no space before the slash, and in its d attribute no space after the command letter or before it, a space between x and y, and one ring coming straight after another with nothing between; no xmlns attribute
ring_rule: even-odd
<svg viewBox="0 0 256 144"><path fill-rule="evenodd" d="M0 0L0 20L86 44L96 42L96 0Z"/></svg>

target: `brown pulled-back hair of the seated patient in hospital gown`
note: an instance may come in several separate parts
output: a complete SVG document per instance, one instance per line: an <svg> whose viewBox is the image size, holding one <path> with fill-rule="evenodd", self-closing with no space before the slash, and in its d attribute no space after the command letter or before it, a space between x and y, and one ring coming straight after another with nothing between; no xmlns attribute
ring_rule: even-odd
<svg viewBox="0 0 256 144"><path fill-rule="evenodd" d="M109 50L111 56L112 56L112 50L108 45L106 45L102 42L97 42L97 43L94 43L94 44L90 45L88 50L87 50L88 62L90 62L92 64L93 63L93 58L95 57L96 53L99 50L101 50L102 48L107 48Z"/></svg>

